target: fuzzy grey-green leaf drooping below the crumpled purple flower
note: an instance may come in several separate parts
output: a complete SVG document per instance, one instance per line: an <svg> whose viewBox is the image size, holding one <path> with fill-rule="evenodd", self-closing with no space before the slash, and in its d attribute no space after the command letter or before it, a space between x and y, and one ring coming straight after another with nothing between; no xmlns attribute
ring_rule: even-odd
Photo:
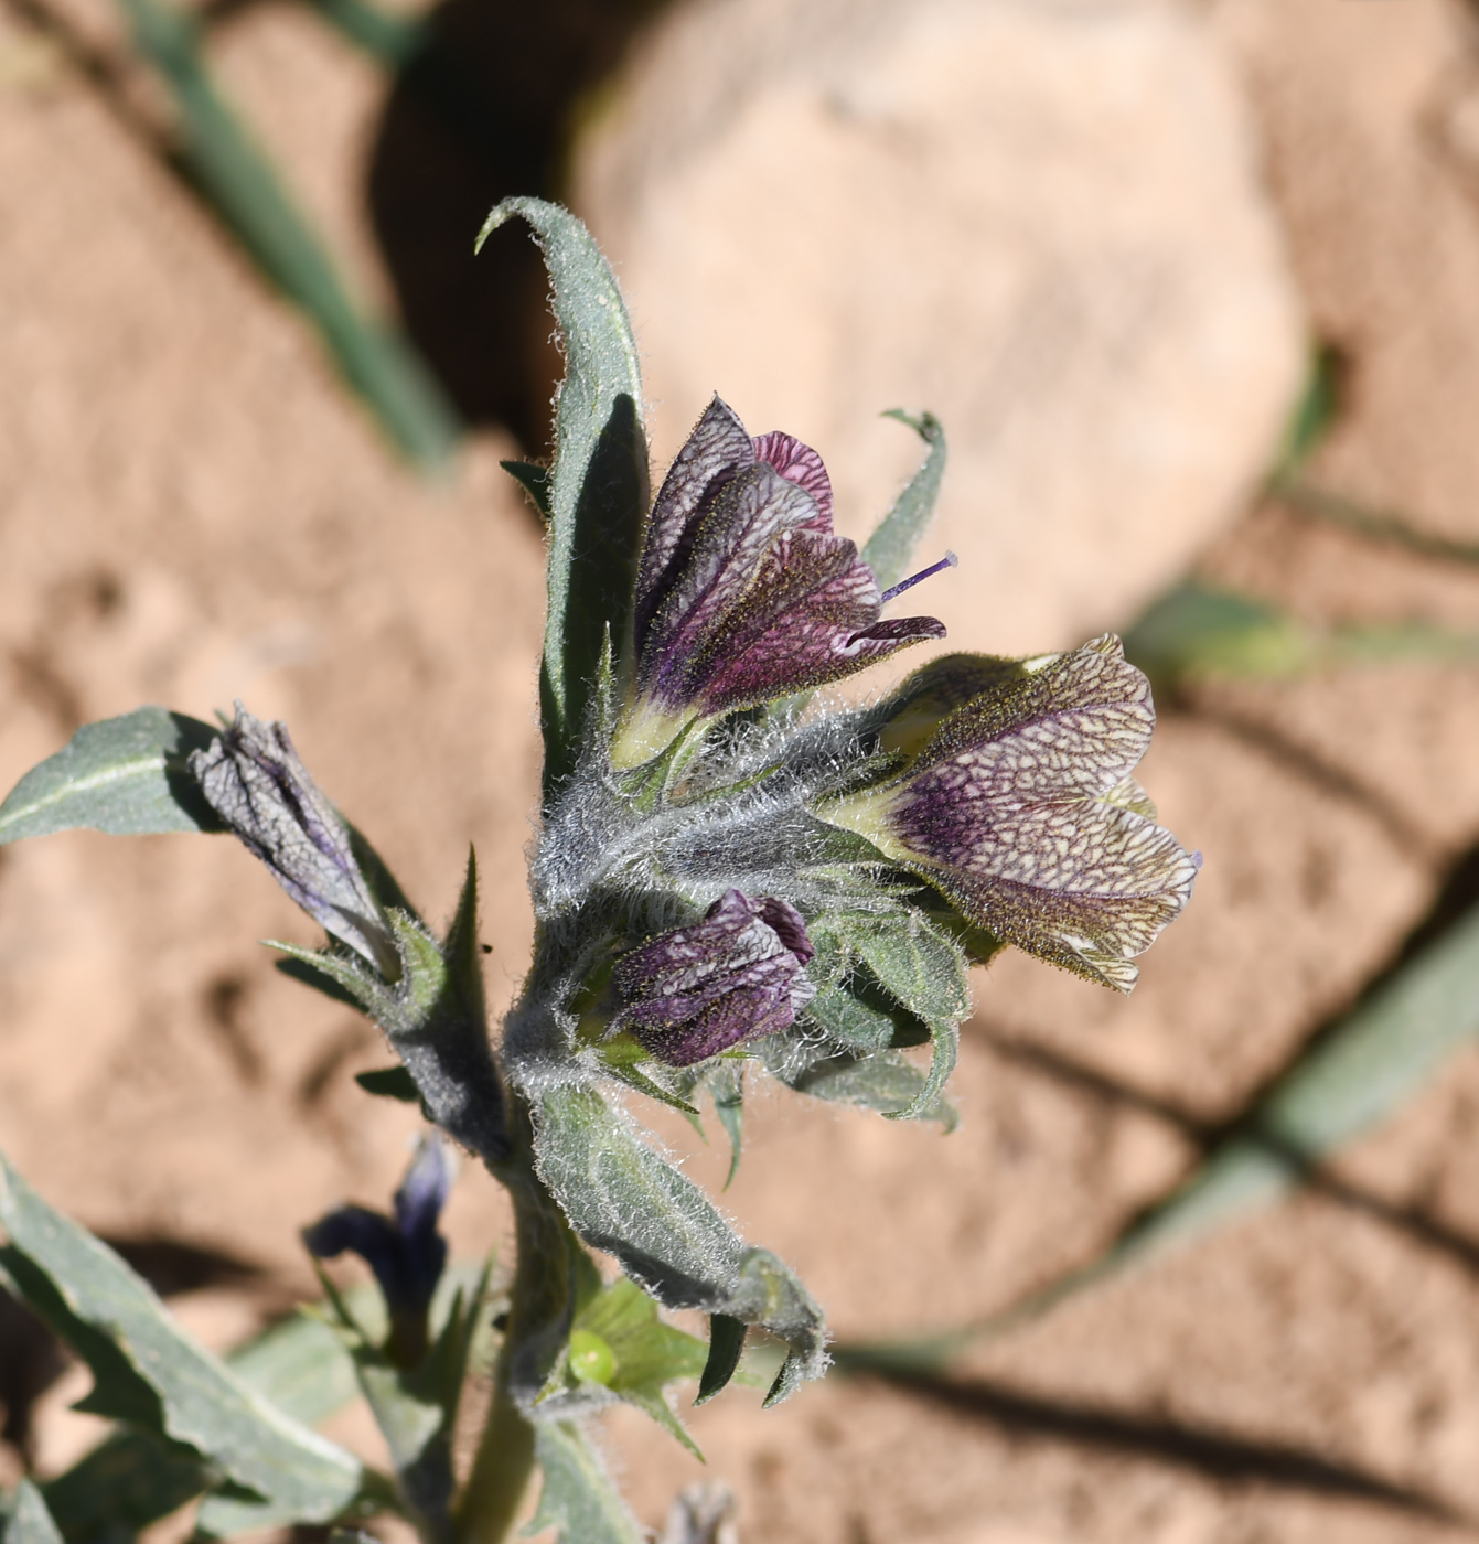
<svg viewBox="0 0 1479 1544"><path fill-rule="evenodd" d="M767 1403L826 1371L826 1328L806 1288L766 1249L746 1248L713 1203L584 1087L539 1095L539 1177L594 1249L614 1255L667 1308L760 1325L789 1346Z"/></svg>

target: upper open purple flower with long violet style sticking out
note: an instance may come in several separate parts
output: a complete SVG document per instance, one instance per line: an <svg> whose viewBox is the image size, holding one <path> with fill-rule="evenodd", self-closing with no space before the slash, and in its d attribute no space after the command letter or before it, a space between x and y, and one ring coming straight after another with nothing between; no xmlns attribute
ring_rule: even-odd
<svg viewBox="0 0 1479 1544"><path fill-rule="evenodd" d="M821 457L789 434L752 440L715 397L647 523L613 760L639 766L693 718L826 686L945 636L932 616L883 619L895 591L882 594L832 531Z"/></svg>

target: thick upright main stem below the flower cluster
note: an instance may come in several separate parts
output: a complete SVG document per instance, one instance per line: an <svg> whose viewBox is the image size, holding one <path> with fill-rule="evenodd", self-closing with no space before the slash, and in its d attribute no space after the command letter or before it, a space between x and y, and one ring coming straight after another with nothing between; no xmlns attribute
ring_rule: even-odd
<svg viewBox="0 0 1479 1544"><path fill-rule="evenodd" d="M514 1390L543 1382L568 1339L574 1312L573 1266L580 1244L534 1173L528 1106L514 1090L508 1099L514 1150L492 1173L514 1203L517 1265L492 1405L457 1505L460 1544L505 1544L513 1538L534 1471L534 1427L519 1410Z"/></svg>

